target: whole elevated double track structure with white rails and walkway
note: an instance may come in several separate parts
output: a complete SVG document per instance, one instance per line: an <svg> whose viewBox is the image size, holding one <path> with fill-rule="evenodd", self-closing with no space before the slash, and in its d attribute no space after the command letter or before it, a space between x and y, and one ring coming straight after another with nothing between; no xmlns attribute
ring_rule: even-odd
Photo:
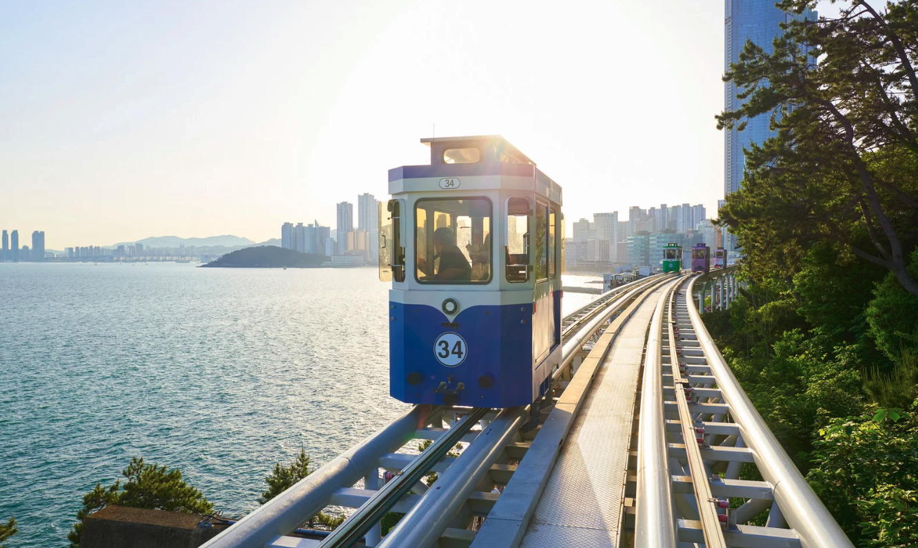
<svg viewBox="0 0 918 548"><path fill-rule="evenodd" d="M852 546L701 322L706 279L729 306L731 269L599 295L565 316L544 400L414 406L205 546ZM329 506L354 511L324 539L292 534Z"/></svg>

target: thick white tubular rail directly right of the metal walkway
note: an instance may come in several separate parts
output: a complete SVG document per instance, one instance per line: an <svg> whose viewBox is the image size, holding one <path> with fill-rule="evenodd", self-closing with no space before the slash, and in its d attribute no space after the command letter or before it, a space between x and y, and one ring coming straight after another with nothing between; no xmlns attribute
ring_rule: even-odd
<svg viewBox="0 0 918 548"><path fill-rule="evenodd" d="M641 420L638 423L637 500L634 545L637 548L676 548L676 515L673 512L665 415L663 414L663 346L660 343L663 309L677 281L656 303L641 387Z"/></svg>

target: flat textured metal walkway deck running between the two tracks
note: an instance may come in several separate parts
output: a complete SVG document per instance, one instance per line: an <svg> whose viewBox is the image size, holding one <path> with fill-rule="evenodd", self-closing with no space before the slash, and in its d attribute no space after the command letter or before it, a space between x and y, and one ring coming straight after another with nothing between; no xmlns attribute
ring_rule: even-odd
<svg viewBox="0 0 918 548"><path fill-rule="evenodd" d="M602 360L522 548L618 546L634 394L647 329L663 292L653 291L638 307Z"/></svg>

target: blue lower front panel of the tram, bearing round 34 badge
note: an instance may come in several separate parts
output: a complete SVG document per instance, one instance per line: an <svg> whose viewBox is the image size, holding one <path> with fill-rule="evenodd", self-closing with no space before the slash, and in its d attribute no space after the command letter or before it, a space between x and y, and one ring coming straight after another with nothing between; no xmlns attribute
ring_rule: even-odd
<svg viewBox="0 0 918 548"><path fill-rule="evenodd" d="M532 303L472 306L447 319L423 304L390 302L389 394L407 403L503 408L532 403ZM461 363L455 335L464 345ZM438 341L439 339L439 341ZM448 341L444 348L442 341ZM439 344L438 344L439 343ZM543 365L543 367L548 367ZM543 378L537 379L540 392ZM443 387L442 383L446 383Z"/></svg>

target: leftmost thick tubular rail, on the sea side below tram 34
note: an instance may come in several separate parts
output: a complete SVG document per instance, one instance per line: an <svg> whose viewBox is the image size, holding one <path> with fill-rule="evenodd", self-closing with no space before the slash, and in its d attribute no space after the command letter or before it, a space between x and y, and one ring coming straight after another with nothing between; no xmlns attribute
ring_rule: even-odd
<svg viewBox="0 0 918 548"><path fill-rule="evenodd" d="M304 477L292 488L203 544L203 548L254 548L271 543L325 508L335 489L353 485L386 453L405 444L419 425L437 410L416 405L379 432L364 439L328 464Z"/></svg>

